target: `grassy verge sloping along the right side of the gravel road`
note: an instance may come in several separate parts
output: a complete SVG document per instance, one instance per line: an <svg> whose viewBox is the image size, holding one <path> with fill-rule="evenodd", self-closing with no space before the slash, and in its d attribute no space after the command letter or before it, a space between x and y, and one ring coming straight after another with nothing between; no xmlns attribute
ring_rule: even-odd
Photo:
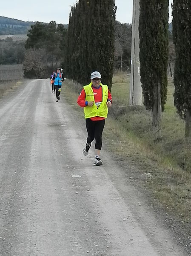
<svg viewBox="0 0 191 256"><path fill-rule="evenodd" d="M179 221L191 221L191 144L185 140L185 123L176 114L174 85L168 79L168 97L162 113L160 135L152 127L152 115L144 106L128 106L130 77L114 74L112 108L105 122L103 138L107 151L134 178L134 184L146 188L155 205L171 212ZM64 94L83 117L77 106L82 85L65 81ZM126 163L125 163L126 162ZM129 168L130 166L130 168ZM131 168L132 166L132 168Z"/></svg>

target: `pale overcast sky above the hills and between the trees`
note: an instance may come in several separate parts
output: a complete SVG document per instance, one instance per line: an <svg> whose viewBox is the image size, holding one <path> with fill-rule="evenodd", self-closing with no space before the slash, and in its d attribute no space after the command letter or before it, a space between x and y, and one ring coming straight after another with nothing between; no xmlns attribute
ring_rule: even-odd
<svg viewBox="0 0 191 256"><path fill-rule="evenodd" d="M169 0L170 6L173 0ZM0 16L22 21L43 21L68 24L71 6L76 0L3 0ZM133 0L115 0L117 6L116 20L120 23L132 23ZM171 22L171 8L169 10ZM103 17L104 18L104 17Z"/></svg>

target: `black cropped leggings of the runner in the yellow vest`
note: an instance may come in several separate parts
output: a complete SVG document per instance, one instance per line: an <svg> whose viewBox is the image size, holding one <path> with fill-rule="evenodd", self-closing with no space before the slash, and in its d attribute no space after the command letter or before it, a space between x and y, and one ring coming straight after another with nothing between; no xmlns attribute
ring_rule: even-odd
<svg viewBox="0 0 191 256"><path fill-rule="evenodd" d="M102 149L102 132L105 125L105 119L100 121L91 121L90 118L86 118L86 129L88 132L87 143L95 138L95 149Z"/></svg>

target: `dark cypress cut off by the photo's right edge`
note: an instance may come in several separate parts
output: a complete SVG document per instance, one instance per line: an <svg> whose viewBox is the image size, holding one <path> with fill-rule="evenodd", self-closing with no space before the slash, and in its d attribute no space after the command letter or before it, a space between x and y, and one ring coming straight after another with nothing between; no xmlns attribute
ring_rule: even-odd
<svg viewBox="0 0 191 256"><path fill-rule="evenodd" d="M173 39L175 45L174 105L185 120L185 136L191 138L191 1L174 0Z"/></svg>

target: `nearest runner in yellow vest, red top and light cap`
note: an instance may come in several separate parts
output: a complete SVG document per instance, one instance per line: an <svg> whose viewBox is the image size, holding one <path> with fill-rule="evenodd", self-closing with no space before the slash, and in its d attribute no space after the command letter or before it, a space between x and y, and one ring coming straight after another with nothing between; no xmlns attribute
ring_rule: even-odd
<svg viewBox="0 0 191 256"><path fill-rule="evenodd" d="M84 108L86 129L88 132L87 143L83 154L88 155L91 142L95 138L95 161L94 165L103 165L100 159L102 148L102 132L105 118L108 115L108 107L111 107L112 97L107 85L101 83L101 74L98 71L91 73L91 82L83 87L77 103Z"/></svg>

